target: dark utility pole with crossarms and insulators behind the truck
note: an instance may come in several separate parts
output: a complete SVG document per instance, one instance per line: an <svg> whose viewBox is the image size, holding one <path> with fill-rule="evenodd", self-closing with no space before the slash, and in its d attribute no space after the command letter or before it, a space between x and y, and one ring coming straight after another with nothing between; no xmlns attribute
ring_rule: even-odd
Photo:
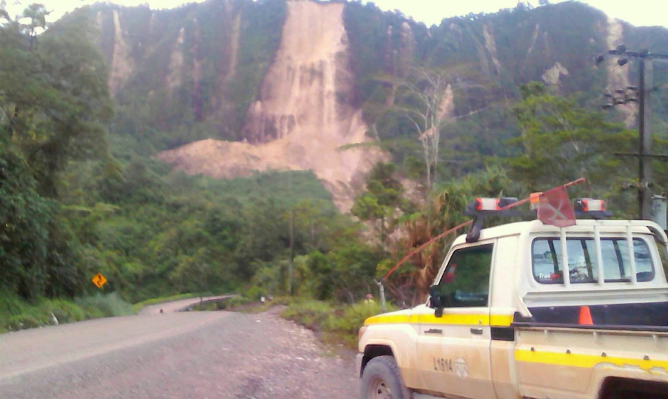
<svg viewBox="0 0 668 399"><path fill-rule="evenodd" d="M651 159L665 158L664 155L653 155L651 153L651 103L649 97L652 90L651 61L654 59L668 60L668 54L651 53L649 50L632 52L628 51L625 45L619 45L615 50L608 50L608 52L597 56L596 65L602 63L606 56L618 57L617 64L620 67L626 65L629 58L638 60L638 98L625 96L625 98L619 100L613 98L611 94L607 94L611 98L611 103L604 105L603 108L609 109L614 105L638 101L638 153L616 153L615 155L638 157L638 217L651 220ZM632 87L629 87L629 89L632 89Z"/></svg>

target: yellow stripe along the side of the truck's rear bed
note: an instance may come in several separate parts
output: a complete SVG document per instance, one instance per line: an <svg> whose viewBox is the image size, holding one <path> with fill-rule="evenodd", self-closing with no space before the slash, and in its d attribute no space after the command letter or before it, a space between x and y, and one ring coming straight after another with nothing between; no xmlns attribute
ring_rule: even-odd
<svg viewBox="0 0 668 399"><path fill-rule="evenodd" d="M532 352L529 349L515 349L515 360L527 363L543 363L545 365L583 367L586 369L591 369L597 365L614 365L617 367L636 366L645 371L651 371L651 369L659 367L664 369L664 372L668 371L668 360L644 360L558 352Z"/></svg>

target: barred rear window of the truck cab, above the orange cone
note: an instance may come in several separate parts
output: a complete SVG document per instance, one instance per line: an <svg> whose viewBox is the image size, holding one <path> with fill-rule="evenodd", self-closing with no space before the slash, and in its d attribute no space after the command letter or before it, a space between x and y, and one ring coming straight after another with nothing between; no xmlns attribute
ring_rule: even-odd
<svg viewBox="0 0 668 399"><path fill-rule="evenodd" d="M633 239L636 280L654 279L654 265L647 242ZM598 282L596 244L593 238L567 238L568 270L571 283ZM538 238L532 243L534 279L543 284L563 283L561 241L559 237ZM601 238L605 282L631 281L631 262L625 238Z"/></svg>

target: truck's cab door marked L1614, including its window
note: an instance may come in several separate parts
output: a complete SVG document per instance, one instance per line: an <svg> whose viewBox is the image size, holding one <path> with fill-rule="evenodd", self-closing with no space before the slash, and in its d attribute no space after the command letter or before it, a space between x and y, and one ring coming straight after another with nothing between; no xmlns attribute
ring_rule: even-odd
<svg viewBox="0 0 668 399"><path fill-rule="evenodd" d="M419 315L419 369L430 391L494 397L489 304L493 249L493 241L481 241L452 252L436 286L443 315Z"/></svg>

